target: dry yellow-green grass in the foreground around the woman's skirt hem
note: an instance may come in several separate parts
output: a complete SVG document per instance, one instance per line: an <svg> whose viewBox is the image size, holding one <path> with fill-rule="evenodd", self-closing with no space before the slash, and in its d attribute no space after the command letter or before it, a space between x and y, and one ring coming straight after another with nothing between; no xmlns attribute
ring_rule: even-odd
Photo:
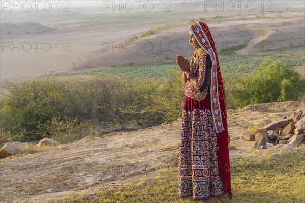
<svg viewBox="0 0 305 203"><path fill-rule="evenodd" d="M303 187L305 144L290 152L253 151L242 159L231 159L232 203L300 203L305 201ZM177 195L177 169L165 169L153 180L96 191L84 197L70 193L65 202L196 202ZM73 200L72 200L73 199ZM54 202L56 202L54 200ZM228 195L209 202L229 202Z"/></svg>

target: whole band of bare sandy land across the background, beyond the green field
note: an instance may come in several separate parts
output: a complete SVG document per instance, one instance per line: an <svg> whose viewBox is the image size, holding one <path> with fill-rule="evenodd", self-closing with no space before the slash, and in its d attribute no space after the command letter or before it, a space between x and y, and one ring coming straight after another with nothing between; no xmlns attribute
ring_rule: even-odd
<svg viewBox="0 0 305 203"><path fill-rule="evenodd" d="M183 15L185 13L177 17L181 18ZM2 42L7 41L13 45L20 42L19 48L22 43L30 44L31 49L28 52L18 52L17 48L11 51L11 46L4 49L1 52L0 80L15 78L22 81L28 77L58 72L102 69L109 68L111 65L120 67L126 66L124 64L129 61L133 62L133 66L156 64L173 61L177 54L190 59L195 50L188 42L187 26L163 30L155 35L137 39L131 44L124 44L124 40L134 34L166 24L166 21L161 21L159 24L145 22L139 21L136 26L131 26L130 23L115 23L115 26L107 24L84 26L69 20L62 21L60 24L46 22L42 25L58 28L58 30L2 39ZM72 24L69 25L69 23ZM179 24L176 21L172 23ZM209 27L218 50L230 47L232 43L234 45L245 43L250 46L248 51L245 48L237 54L249 55L261 52L262 49L265 51L270 48L270 44L272 50L305 44L303 24L302 18L249 20L232 18L221 23L209 23ZM34 42L39 43L37 49ZM44 49L43 43L46 43ZM114 48L120 43L123 49ZM263 47L263 43L268 44ZM51 45L50 51L48 51L49 45ZM108 46L110 47L107 48ZM24 49L26 48L25 44Z"/></svg>

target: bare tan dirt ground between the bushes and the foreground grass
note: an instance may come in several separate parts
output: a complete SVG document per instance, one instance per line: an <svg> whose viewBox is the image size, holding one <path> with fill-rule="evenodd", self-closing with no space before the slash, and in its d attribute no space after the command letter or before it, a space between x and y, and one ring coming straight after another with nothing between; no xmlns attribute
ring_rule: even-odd
<svg viewBox="0 0 305 203"><path fill-rule="evenodd" d="M254 147L255 141L242 139L242 132L251 126L259 127L263 119L289 116L297 108L304 109L305 102L228 110L230 145L237 148L230 150L230 157L242 156ZM168 164L177 168L180 131L178 119L142 131L111 133L95 140L84 138L45 152L1 159L1 202L48 202L47 198L60 198L69 191L90 194L95 189L136 183L140 178L148 181ZM169 163L172 156L175 161Z"/></svg>

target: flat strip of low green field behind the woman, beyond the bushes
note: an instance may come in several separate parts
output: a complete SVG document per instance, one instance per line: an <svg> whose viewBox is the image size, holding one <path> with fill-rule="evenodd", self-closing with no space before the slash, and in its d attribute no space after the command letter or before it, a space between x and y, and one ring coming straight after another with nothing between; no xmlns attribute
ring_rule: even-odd
<svg viewBox="0 0 305 203"><path fill-rule="evenodd" d="M291 67L300 66L305 63L304 50L301 48L272 51L260 54L252 54L250 56L221 55L219 56L220 68L223 74L226 73L251 73L258 68L259 64L266 58L272 60L280 59L283 63ZM55 76L74 76L74 75L89 75L103 77L106 75L118 75L125 81L132 81L133 78L160 79L164 81L168 77L168 70L180 70L175 61L166 62L155 65L136 66L136 67L114 67L100 70L83 71L80 73L59 73Z"/></svg>

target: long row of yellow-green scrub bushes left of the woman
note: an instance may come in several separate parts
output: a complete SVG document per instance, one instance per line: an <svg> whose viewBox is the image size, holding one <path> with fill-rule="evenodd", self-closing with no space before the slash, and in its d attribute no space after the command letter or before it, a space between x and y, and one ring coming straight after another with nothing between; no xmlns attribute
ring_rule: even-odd
<svg viewBox="0 0 305 203"><path fill-rule="evenodd" d="M168 74L165 82L140 77L123 82L116 75L73 77L65 83L54 78L20 82L31 88L17 88L0 101L0 128L5 135L0 141L50 137L66 143L82 138L84 123L89 128L89 124L107 122L112 130L118 124L126 131L130 126L135 130L176 120L181 115L184 85L181 71L173 69ZM35 84L42 88L32 88Z"/></svg>

